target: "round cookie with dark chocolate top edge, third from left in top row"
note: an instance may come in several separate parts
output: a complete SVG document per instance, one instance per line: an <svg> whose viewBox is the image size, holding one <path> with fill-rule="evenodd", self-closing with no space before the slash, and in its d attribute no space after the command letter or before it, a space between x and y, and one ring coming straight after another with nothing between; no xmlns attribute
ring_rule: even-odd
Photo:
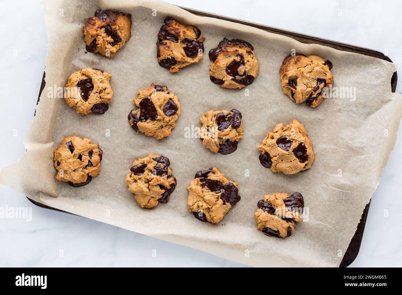
<svg viewBox="0 0 402 295"><path fill-rule="evenodd" d="M257 77L259 67L253 50L246 41L224 38L218 47L209 51L209 79L225 88L240 89L250 85Z"/></svg>

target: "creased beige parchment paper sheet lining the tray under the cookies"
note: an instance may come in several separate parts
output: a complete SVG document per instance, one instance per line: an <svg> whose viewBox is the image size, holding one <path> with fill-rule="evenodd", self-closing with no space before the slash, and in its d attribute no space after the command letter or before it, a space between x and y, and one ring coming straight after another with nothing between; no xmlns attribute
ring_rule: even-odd
<svg viewBox="0 0 402 295"><path fill-rule="evenodd" d="M132 37L112 59L84 53L84 21L97 9L132 15ZM402 113L400 95L390 88L396 65L195 16L160 1L47 0L43 10L49 34L46 87L25 138L27 152L18 163L3 169L2 184L61 210L252 266L339 265L395 144ZM242 90L211 83L207 54L179 73L160 67L155 43L166 16L197 26L206 38L206 53L223 37L250 42L260 63L254 83ZM356 99L327 98L316 109L289 100L282 93L279 67L292 49L330 60L334 87L356 87ZM64 87L69 75L84 67L112 75L113 102L104 115L82 116L63 98L47 97L53 91L48 87ZM176 127L162 142L136 134L127 122L133 97L152 82L167 85L181 104ZM30 99L36 99L35 93ZM232 108L242 112L244 124L244 138L236 152L214 154L199 138L185 136L186 128L199 126L199 117L206 111ZM276 124L293 119L308 131L314 164L296 175L273 173L260 165L256 145ZM54 179L53 150L71 135L90 138L104 151L100 175L80 188ZM151 210L139 207L125 183L134 159L148 153L168 157L177 179L170 201ZM199 222L189 213L186 189L197 171L213 166L238 182L241 195L216 225ZM309 208L308 222L298 223L286 239L258 231L257 201L266 194L296 191Z"/></svg>

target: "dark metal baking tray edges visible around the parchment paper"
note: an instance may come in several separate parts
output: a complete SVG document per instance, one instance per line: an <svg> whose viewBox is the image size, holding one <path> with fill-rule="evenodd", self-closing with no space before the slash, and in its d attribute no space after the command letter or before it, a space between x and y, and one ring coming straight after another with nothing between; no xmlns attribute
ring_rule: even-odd
<svg viewBox="0 0 402 295"><path fill-rule="evenodd" d="M272 26L265 26L263 24L256 24L254 22L248 22L245 20L238 20L236 18L230 18L227 16L212 14L209 12L195 10L195 9L191 9L191 8L187 8L187 7L182 7L182 6L178 6L178 7L182 8L184 10L187 10L188 12L191 12L198 16L208 16L208 17L213 17L213 18L219 18L222 20L228 20L230 22L237 22L239 24L244 24L246 26L252 26L254 28L259 28L259 29L261 29L263 31L267 31L269 33L287 36L287 37L295 39L301 43L314 43L314 44L324 45L324 46L328 46L328 47L338 49L341 51L349 51L349 52L359 53L359 54L363 54L363 55L368 55L371 57L376 57L376 58L383 59L385 61L389 61L392 63L392 60L388 56L384 55L384 53L381 53L381 52L373 50L373 49L368 49L368 48L364 48L364 47L359 47L359 46L355 46L355 45L350 45L350 44L346 44L346 43L341 43L341 42L337 42L337 41L332 41L332 40L323 39L320 37L314 37L314 36L310 36L310 35L292 32L292 31L286 31L286 30L282 30L280 28L274 28ZM395 72L391 78L392 92L395 92L395 90L396 90L397 81L398 81L398 75ZM38 101L37 101L38 103L39 103L39 98L40 98L41 93L44 88L45 88L45 72L43 72L41 88L39 91L39 96L38 96ZM36 114L36 110L35 110L35 114ZM53 208L53 207L50 207L47 205L43 205L42 203L39 203L37 201L34 201L33 199L30 199L29 197L27 197L27 199L29 199L29 201L31 201L31 203L33 203L41 208L72 214L70 212L66 212L66 211L59 210L59 209L56 209L56 208ZM360 222L357 225L355 235L353 236L351 242L349 243L349 246L345 252L345 255L342 258L342 261L339 264L339 267L347 267L353 262L353 260L356 259L357 254L359 253L361 240L363 238L363 232L364 232L364 227L366 224L367 214L369 212L369 207L370 207L370 202L367 203L367 205L365 206L365 208L363 210L363 214L361 215ZM76 214L73 214L73 215L76 215Z"/></svg>

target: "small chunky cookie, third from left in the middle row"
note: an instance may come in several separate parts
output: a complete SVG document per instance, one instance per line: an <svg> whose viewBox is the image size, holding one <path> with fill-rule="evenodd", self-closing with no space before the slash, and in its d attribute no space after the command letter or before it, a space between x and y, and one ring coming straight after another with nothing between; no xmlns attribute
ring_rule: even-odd
<svg viewBox="0 0 402 295"><path fill-rule="evenodd" d="M222 155L236 151L240 138L243 138L242 114L238 110L209 111L200 121L202 128L198 133L203 145Z"/></svg>

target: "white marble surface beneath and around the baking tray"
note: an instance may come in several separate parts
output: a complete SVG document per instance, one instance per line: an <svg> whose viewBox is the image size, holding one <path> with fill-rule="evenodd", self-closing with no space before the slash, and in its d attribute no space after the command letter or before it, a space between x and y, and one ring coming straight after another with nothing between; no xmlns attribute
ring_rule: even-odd
<svg viewBox="0 0 402 295"><path fill-rule="evenodd" d="M402 3L379 1L169 0L222 14L388 52L402 64ZM94 8L95 9L95 8ZM312 14L317 12L318 15ZM325 14L324 14L325 13ZM324 14L324 15L323 15ZM341 15L339 15L341 14ZM47 34L38 0L2 2L0 10L0 168L18 161L35 111ZM401 75L401 74L400 74ZM402 75L401 75L402 76ZM402 81L397 91L401 92ZM353 267L401 267L402 130L373 195ZM242 267L243 264L86 218L44 210L0 186L0 207L31 207L32 220L0 219L0 267ZM388 210L388 216L384 216ZM152 256L156 249L158 255Z"/></svg>

